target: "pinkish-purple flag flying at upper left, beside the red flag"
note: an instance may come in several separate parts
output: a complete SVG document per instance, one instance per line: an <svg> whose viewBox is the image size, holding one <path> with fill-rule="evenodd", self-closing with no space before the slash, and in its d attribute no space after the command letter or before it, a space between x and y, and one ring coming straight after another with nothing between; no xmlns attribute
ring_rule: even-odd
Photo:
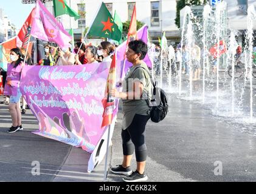
<svg viewBox="0 0 256 194"><path fill-rule="evenodd" d="M32 24L31 35L48 42L56 42L61 48L70 47L71 35L54 18L46 7L37 1L35 17Z"/></svg>

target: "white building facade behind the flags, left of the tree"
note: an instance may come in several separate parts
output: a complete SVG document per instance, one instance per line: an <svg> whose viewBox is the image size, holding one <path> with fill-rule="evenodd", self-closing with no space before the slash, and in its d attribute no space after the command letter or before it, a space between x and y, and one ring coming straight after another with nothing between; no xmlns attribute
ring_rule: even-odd
<svg viewBox="0 0 256 194"><path fill-rule="evenodd" d="M66 0L71 8L80 13L82 17L75 21L67 15L58 17L64 28L67 30L74 28L75 39L80 39L83 35L81 32L89 27L94 20L95 14L102 1L99 0ZM168 45L175 44L180 40L179 29L175 25L176 18L176 0L105 0L109 12L114 16L116 10L122 22L131 19L133 7L136 3L137 20L148 25L150 39L152 42L158 42L162 33L168 39ZM54 13L53 2L45 3L47 9Z"/></svg>

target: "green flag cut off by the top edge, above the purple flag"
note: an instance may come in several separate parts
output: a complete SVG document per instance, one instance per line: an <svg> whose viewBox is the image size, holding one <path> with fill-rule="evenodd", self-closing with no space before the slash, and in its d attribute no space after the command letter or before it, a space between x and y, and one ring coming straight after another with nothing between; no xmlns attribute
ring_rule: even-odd
<svg viewBox="0 0 256 194"><path fill-rule="evenodd" d="M66 0L54 0L54 13L55 18L64 14L74 17L75 20L80 18L80 15L67 5Z"/></svg>

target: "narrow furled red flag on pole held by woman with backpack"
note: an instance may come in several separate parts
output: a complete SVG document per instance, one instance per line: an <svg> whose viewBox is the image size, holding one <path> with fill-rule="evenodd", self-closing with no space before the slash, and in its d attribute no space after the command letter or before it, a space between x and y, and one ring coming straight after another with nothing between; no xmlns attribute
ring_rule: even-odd
<svg viewBox="0 0 256 194"><path fill-rule="evenodd" d="M114 53L111 66L108 73L108 79L106 83L106 92L109 93L109 89L112 89L116 83L116 53ZM113 112L115 109L115 101L108 102L107 99L102 100L104 107L102 127L110 125L113 119Z"/></svg>

